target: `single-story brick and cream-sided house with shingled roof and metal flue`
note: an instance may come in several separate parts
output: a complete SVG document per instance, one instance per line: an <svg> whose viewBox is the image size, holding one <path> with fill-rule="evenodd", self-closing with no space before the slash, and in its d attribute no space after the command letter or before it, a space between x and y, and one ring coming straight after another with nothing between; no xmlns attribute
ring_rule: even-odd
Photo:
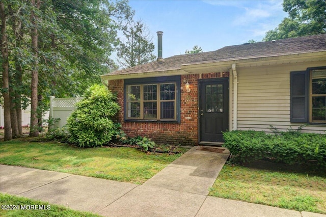
<svg viewBox="0 0 326 217"><path fill-rule="evenodd" d="M161 32L158 44L161 46ZM156 143L220 145L227 130L326 130L326 34L178 55L101 76L122 129Z"/></svg>

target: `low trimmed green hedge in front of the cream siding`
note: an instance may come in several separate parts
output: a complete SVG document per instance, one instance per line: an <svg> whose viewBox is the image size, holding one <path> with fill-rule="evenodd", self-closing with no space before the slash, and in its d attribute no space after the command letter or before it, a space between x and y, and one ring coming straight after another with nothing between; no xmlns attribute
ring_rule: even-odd
<svg viewBox="0 0 326 217"><path fill-rule="evenodd" d="M224 147L236 162L271 159L286 164L326 166L326 135L287 132L267 134L261 131L224 132Z"/></svg>

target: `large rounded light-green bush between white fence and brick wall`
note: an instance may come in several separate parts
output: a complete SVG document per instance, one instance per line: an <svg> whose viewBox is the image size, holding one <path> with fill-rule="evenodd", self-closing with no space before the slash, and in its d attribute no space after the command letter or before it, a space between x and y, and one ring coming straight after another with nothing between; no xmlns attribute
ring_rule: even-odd
<svg viewBox="0 0 326 217"><path fill-rule="evenodd" d="M120 110L116 99L104 86L90 87L67 120L69 141L79 147L98 147L110 142L117 131L112 118Z"/></svg>

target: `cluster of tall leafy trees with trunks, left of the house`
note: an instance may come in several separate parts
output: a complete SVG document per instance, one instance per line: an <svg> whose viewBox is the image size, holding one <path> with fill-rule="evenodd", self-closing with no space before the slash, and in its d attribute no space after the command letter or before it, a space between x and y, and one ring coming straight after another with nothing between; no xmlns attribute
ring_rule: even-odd
<svg viewBox="0 0 326 217"><path fill-rule="evenodd" d="M4 0L0 10L5 140L21 134L14 128L29 101L37 135L50 95L82 95L99 84L115 68L117 33L134 13L127 0Z"/></svg>

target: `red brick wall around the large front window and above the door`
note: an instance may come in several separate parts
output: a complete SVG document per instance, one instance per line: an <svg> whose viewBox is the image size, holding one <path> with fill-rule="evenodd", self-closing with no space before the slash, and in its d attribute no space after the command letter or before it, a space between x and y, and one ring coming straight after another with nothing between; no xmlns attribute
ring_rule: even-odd
<svg viewBox="0 0 326 217"><path fill-rule="evenodd" d="M135 135L152 138L157 144L171 145L198 145L198 79L229 77L229 72L181 75L181 122L178 123L151 123L151 122L124 122L124 93L123 80L110 80L109 89L118 95L121 106L119 122L129 137ZM185 90L189 83L191 91Z"/></svg>

